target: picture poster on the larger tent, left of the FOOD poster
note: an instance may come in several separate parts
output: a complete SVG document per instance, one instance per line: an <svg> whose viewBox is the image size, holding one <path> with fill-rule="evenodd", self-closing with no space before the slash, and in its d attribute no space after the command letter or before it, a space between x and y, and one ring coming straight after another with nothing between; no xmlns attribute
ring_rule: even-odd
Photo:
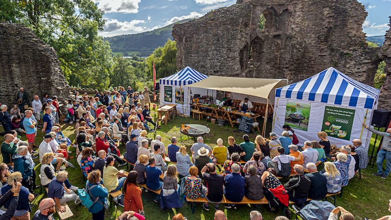
<svg viewBox="0 0 391 220"><path fill-rule="evenodd" d="M288 101L285 110L285 124L293 129L307 131L310 111L310 102Z"/></svg>

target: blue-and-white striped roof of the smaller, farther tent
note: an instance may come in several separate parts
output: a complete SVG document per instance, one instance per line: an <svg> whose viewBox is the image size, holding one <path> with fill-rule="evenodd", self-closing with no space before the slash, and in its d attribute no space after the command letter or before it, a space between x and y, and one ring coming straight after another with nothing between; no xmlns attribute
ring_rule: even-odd
<svg viewBox="0 0 391 220"><path fill-rule="evenodd" d="M174 75L161 78L159 82L160 85L185 86L204 80L206 78L207 75L204 75L197 70L186 66Z"/></svg>

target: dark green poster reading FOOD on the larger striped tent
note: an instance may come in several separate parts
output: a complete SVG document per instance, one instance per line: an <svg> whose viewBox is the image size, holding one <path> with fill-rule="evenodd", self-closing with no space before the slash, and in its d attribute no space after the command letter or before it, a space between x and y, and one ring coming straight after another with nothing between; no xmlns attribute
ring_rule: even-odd
<svg viewBox="0 0 391 220"><path fill-rule="evenodd" d="M331 137L349 140L355 111L353 109L326 106L324 109L322 131Z"/></svg>

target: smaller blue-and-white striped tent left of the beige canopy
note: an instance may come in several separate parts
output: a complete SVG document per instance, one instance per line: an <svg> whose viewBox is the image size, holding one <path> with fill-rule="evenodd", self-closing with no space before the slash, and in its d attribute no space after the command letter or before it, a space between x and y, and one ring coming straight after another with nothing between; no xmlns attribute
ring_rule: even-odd
<svg viewBox="0 0 391 220"><path fill-rule="evenodd" d="M206 79L208 76L186 66L179 72L161 78L160 83L160 105L177 104L177 110L185 115L190 115L190 93L210 95L207 89L189 89L185 87ZM182 97L181 97L182 95ZM215 92L212 93L215 98Z"/></svg>

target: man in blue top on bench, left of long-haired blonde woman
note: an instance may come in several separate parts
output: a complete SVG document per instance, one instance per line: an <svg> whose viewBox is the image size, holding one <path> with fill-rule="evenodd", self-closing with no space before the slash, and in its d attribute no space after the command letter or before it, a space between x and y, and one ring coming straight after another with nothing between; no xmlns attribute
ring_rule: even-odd
<svg viewBox="0 0 391 220"><path fill-rule="evenodd" d="M146 185L148 189L158 190L163 186L163 182L159 181L159 176L162 174L161 169L157 168L155 158L151 156L148 160L149 166L145 168ZM160 195L154 199L155 202L160 202Z"/></svg>

